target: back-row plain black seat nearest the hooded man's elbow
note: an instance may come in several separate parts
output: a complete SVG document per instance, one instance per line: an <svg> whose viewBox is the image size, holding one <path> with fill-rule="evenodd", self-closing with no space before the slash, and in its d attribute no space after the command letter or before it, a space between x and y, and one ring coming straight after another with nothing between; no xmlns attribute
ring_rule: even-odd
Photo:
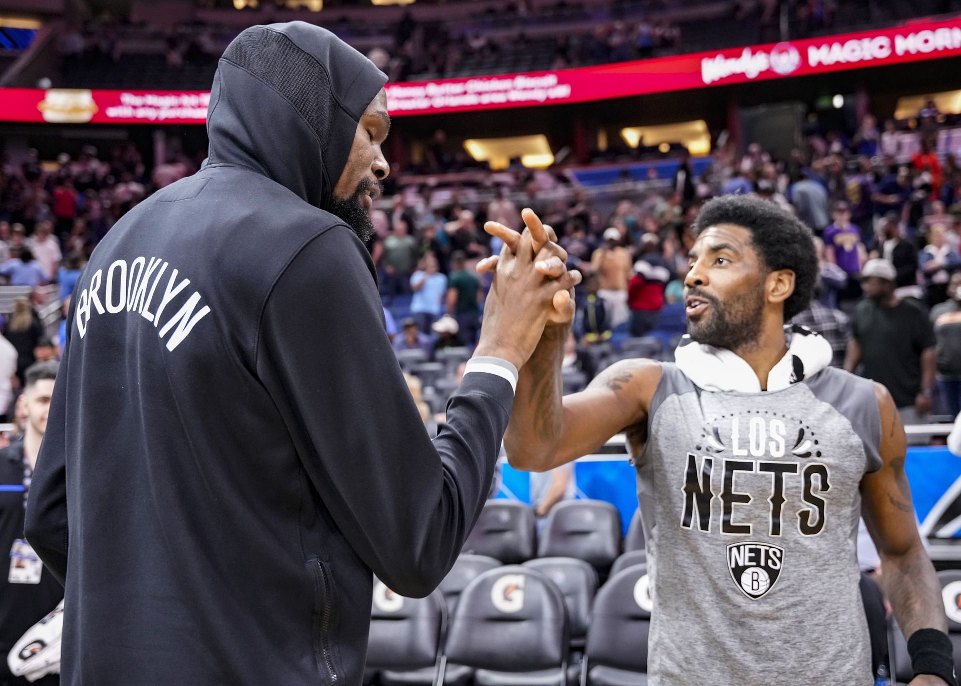
<svg viewBox="0 0 961 686"><path fill-rule="evenodd" d="M487 501L463 551L488 555L505 564L518 564L534 556L537 547L535 531L536 517L530 505Z"/></svg>

